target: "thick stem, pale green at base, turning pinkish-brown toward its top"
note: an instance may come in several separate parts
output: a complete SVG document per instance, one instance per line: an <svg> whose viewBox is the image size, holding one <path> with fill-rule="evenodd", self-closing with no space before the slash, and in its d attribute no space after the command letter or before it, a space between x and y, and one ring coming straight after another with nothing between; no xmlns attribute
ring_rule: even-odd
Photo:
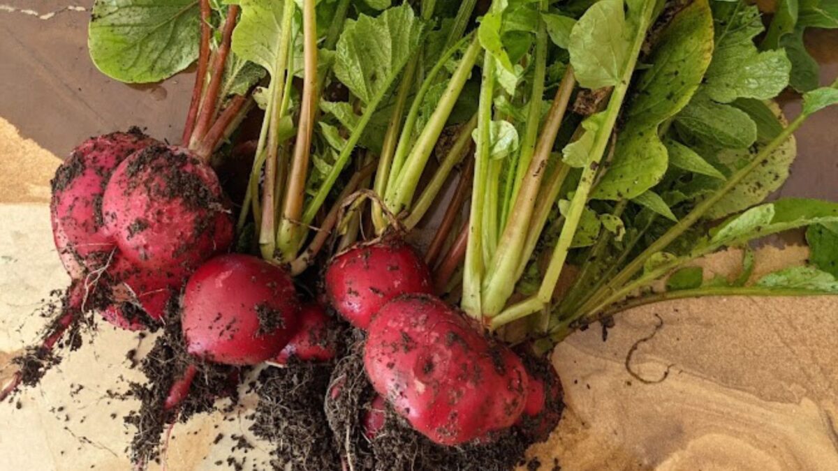
<svg viewBox="0 0 838 471"><path fill-rule="evenodd" d="M499 250L494 254L489 271L484 278L484 315L494 316L499 313L515 290L515 269L521 262L521 253L541 189L541 180L575 85L573 69L568 67L561 85L556 90L556 96L553 98L535 153L530 159L524 181L520 185L520 193L510 211L510 218L499 241Z"/></svg>

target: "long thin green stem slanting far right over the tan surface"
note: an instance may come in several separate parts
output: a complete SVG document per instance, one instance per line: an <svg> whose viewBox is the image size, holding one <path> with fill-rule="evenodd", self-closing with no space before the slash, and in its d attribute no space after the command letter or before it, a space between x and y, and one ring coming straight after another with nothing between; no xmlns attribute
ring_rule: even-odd
<svg viewBox="0 0 838 471"><path fill-rule="evenodd" d="M753 172L754 169L763 165L771 153L783 144L783 142L789 139L789 137L791 137L791 135L794 134L794 132L797 131L797 129L803 124L807 117L808 116L801 113L794 119L794 121L790 122L789 126L785 127L783 132L780 132L779 135L774 137L771 142L768 142L768 144L759 151L750 163L737 170L736 173L733 173L731 178L727 179L727 182L721 189L718 189L716 193L712 194L709 198L702 200L701 203L696 204L696 207L691 210L688 215L685 215L678 221L677 224L670 227L670 230L667 230L664 235L661 235L657 240L655 240L649 247L646 248L646 250L631 261L629 265L623 268L617 276L613 277L604 287L595 292L588 302L582 304L582 307L579 308L578 315L587 315L587 313L592 313L604 306L608 306L610 303L613 303L615 295L618 294L618 292L623 292L623 290L618 290L618 288L629 282L629 280L634 277L635 273L643 269L644 264L647 260L649 260L650 256L665 250L665 248L669 246L672 241L675 241L675 239L677 239L681 234L690 229L692 225L696 224L696 222L700 220L708 210L710 210L720 199L734 189L737 184L742 181L742 179L747 177L747 175ZM641 279L645 278L646 276L644 275ZM608 300L608 303L599 301L603 299Z"/></svg>

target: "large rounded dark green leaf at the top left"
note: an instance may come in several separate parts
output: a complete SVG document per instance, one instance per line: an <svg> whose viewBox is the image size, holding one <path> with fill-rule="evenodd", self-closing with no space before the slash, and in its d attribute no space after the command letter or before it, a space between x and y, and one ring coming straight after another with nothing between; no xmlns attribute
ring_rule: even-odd
<svg viewBox="0 0 838 471"><path fill-rule="evenodd" d="M197 0L96 0L87 47L105 75L156 82L198 58L199 25Z"/></svg>

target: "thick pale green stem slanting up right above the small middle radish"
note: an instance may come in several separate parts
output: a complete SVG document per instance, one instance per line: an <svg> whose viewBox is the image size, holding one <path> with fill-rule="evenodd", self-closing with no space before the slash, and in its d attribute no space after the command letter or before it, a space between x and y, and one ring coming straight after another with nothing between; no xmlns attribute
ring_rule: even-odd
<svg viewBox="0 0 838 471"><path fill-rule="evenodd" d="M445 91L442 92L437 108L428 118L427 124L422 128L419 137L416 138L411 153L405 159L404 167L396 173L398 176L392 188L393 191L391 194L385 195L385 204L393 214L399 214L401 210L411 204L413 194L416 192L416 185L419 184L419 178L422 177L427 159L431 156L431 152L437 144L437 139L442 133L442 127L445 127L448 116L451 116L451 111L454 104L457 103L460 92L463 91L468 76L471 75L479 52L480 44L475 38L463 54L463 59L451 76L451 80L448 81ZM409 130L406 129L406 131Z"/></svg>

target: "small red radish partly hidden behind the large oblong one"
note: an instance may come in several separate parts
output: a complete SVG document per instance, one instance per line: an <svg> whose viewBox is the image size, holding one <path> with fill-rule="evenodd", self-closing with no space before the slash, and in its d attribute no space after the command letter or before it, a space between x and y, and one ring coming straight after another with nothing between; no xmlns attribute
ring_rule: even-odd
<svg viewBox="0 0 838 471"><path fill-rule="evenodd" d="M422 257L397 237L355 246L334 257L324 280L329 303L360 329L366 329L392 298L432 292L431 273Z"/></svg>

